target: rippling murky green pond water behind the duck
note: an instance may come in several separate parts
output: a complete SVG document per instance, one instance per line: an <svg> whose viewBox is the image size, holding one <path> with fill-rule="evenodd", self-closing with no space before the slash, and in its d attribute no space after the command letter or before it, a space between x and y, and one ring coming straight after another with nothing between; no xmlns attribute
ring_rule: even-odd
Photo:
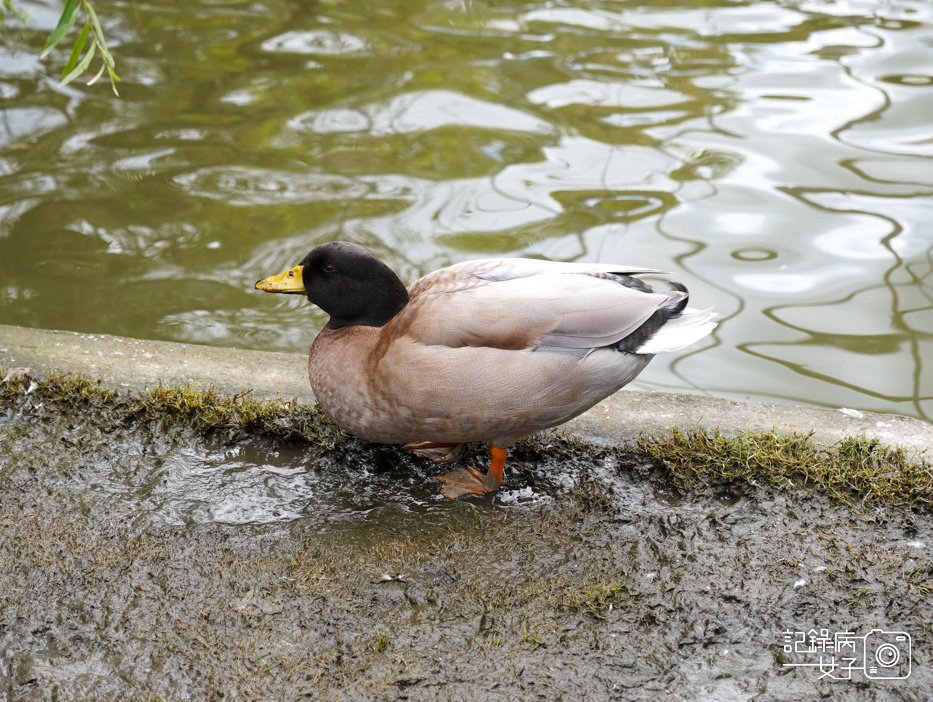
<svg viewBox="0 0 933 702"><path fill-rule="evenodd" d="M2 35L0 323L301 351L251 287L319 242L618 260L723 318L642 388L933 415L929 2L97 5L119 100Z"/></svg>

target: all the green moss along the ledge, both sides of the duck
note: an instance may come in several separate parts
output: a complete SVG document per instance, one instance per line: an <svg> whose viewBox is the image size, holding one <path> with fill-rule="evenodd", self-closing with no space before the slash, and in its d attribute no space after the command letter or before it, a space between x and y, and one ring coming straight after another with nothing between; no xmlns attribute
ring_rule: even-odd
<svg viewBox="0 0 933 702"><path fill-rule="evenodd" d="M327 448L345 448L350 441L316 406L295 401L258 399L249 393L227 395L190 385L117 392L82 376L40 379L3 368L0 378L4 379L0 406L106 412L113 422L186 422L205 434L265 436ZM610 448L577 437L544 434L515 447L512 456L519 463L513 467L520 470L521 461L537 462L545 456L595 463L610 455L624 466L631 462L633 450L654 459L682 490L701 481L738 481L815 488L846 504L933 509L933 467L912 460L903 449L865 437L849 437L823 448L804 435L758 432L727 437L718 431L674 429L666 437L642 437L633 446ZM584 479L578 492L591 507L614 509L603 485Z"/></svg>

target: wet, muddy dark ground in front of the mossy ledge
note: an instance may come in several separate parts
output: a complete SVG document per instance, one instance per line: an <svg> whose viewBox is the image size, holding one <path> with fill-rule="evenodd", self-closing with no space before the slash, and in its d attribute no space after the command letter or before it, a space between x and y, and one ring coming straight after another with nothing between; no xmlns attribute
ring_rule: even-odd
<svg viewBox="0 0 933 702"><path fill-rule="evenodd" d="M513 452L507 490L451 503L435 464L345 437L205 437L101 407L4 403L11 700L933 689L928 512L744 483L681 493L644 458L556 436ZM784 665L819 659L785 653L785 631L824 628L909 633L910 677Z"/></svg>

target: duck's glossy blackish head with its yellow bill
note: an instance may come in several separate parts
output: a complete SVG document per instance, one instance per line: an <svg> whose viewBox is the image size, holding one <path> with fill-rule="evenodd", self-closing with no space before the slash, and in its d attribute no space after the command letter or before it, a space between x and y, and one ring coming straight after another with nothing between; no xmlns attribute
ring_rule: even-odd
<svg viewBox="0 0 933 702"><path fill-rule="evenodd" d="M381 327L408 304L408 291L392 269L346 241L318 246L294 268L260 280L256 289L307 295L330 315L330 329Z"/></svg>

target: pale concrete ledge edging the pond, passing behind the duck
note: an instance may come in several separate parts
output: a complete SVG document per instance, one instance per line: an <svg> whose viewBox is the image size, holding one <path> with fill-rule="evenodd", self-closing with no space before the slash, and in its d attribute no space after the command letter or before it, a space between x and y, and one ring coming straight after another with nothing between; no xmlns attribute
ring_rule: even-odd
<svg viewBox="0 0 933 702"><path fill-rule="evenodd" d="M0 364L40 374L80 373L128 388L166 383L251 390L261 397L314 400L306 359L300 354L145 341L102 334L0 325ZM793 405L736 402L699 395L625 391L568 423L567 429L608 442L638 434L663 434L673 427L720 429L734 435L775 430L813 433L818 443L845 436L877 438L915 455L933 453L933 425L919 419Z"/></svg>

